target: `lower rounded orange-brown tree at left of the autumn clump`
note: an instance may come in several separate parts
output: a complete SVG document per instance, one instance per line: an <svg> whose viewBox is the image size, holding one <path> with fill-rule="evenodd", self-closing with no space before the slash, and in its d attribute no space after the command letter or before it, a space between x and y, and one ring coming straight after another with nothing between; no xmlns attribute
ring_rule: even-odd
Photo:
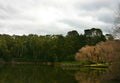
<svg viewBox="0 0 120 83"><path fill-rule="evenodd" d="M99 51L95 46L85 46L76 53L75 59L77 61L98 62L98 53Z"/></svg>

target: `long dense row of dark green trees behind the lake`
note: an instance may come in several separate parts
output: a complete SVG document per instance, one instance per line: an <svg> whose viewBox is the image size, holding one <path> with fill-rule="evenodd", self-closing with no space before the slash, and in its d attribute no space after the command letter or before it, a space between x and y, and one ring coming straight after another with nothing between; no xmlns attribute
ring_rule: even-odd
<svg viewBox="0 0 120 83"><path fill-rule="evenodd" d="M106 38L97 28L76 30L63 35L7 35L0 34L0 58L4 61L73 61L74 54L85 45L96 45Z"/></svg>

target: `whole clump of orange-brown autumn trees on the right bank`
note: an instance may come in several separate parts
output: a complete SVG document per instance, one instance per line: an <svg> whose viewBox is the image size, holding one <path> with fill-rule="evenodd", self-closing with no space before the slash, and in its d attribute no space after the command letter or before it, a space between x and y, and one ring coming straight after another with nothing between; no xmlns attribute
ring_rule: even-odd
<svg viewBox="0 0 120 83"><path fill-rule="evenodd" d="M95 46L81 48L75 56L77 61L112 63L120 60L120 40L100 42Z"/></svg>

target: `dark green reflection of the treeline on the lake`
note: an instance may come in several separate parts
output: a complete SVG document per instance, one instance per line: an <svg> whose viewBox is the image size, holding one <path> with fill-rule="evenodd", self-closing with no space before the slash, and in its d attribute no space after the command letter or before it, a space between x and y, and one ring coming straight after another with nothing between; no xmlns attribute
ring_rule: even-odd
<svg viewBox="0 0 120 83"><path fill-rule="evenodd" d="M73 72L39 65L0 67L0 83L77 83Z"/></svg>

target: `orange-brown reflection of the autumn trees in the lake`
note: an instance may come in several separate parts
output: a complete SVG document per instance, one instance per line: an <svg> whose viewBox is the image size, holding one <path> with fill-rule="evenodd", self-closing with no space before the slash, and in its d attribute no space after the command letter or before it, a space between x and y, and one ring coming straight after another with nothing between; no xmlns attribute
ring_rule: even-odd
<svg viewBox="0 0 120 83"><path fill-rule="evenodd" d="M78 80L78 83L100 83L103 73L103 70L78 71L75 74L75 78Z"/></svg>

